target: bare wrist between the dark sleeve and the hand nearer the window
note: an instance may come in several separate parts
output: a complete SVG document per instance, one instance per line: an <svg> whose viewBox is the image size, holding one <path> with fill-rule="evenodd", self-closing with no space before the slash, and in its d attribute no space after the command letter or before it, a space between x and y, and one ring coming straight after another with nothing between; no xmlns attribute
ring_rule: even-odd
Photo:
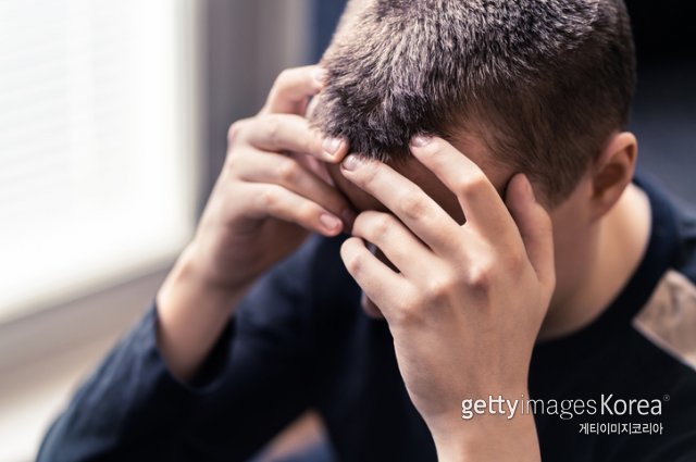
<svg viewBox="0 0 696 462"><path fill-rule="evenodd" d="M157 295L157 342L172 374L189 380L208 358L245 294L207 284L184 250Z"/></svg>

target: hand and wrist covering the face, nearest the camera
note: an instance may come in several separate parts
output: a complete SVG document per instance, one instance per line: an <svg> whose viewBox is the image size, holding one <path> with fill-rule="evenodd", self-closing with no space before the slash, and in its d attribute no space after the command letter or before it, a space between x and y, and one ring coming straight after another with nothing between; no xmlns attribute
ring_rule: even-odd
<svg viewBox="0 0 696 462"><path fill-rule="evenodd" d="M521 444L534 460L531 416L514 417L517 426L505 417L463 422L460 403L529 396L532 349L555 287L550 218L523 175L511 179L504 202L484 173L445 140L418 137L411 150L457 196L467 222L459 225L386 164L349 155L344 176L394 214L361 213L343 260L389 324L409 396L438 453L526 460L519 448L506 452L505 445L482 442L496 432L497 439L514 440L499 433L515 428L530 438Z"/></svg>

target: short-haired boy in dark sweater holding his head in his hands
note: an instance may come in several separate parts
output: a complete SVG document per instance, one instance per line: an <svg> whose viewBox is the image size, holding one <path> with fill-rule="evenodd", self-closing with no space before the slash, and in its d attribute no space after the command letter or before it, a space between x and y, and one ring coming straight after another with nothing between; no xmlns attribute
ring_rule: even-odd
<svg viewBox="0 0 696 462"><path fill-rule="evenodd" d="M633 57L618 0L351 2L39 460L244 460L308 408L341 460L696 458L696 221L632 183Z"/></svg>

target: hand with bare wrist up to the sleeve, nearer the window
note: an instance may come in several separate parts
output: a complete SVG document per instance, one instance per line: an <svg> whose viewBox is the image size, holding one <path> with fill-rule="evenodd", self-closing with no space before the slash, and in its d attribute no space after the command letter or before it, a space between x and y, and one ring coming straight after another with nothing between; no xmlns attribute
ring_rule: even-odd
<svg viewBox="0 0 696 462"><path fill-rule="evenodd" d="M195 375L259 275L310 232L334 236L353 220L320 162L340 162L347 143L322 139L303 117L323 86L318 72L283 72L263 110L229 128L227 159L196 236L157 297L158 346L182 379Z"/></svg>

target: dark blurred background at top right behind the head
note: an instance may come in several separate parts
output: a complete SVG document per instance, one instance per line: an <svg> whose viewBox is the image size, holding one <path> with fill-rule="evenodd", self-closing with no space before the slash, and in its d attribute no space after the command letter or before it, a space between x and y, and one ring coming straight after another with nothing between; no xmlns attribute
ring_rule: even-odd
<svg viewBox="0 0 696 462"><path fill-rule="evenodd" d="M638 168L696 204L696 3L627 0L638 55Z"/></svg>

